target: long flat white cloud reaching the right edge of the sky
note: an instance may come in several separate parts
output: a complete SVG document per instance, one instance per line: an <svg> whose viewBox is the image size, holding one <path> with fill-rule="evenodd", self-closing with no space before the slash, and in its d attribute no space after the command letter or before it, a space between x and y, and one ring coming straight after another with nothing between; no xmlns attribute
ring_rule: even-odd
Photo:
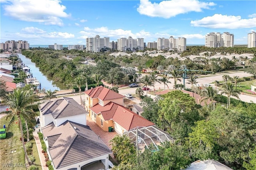
<svg viewBox="0 0 256 170"><path fill-rule="evenodd" d="M190 22L194 27L206 27L206 28L251 28L256 25L256 17L250 19L241 19L241 16L227 16L222 14L214 14L213 16L207 16L201 20L195 20Z"/></svg>

